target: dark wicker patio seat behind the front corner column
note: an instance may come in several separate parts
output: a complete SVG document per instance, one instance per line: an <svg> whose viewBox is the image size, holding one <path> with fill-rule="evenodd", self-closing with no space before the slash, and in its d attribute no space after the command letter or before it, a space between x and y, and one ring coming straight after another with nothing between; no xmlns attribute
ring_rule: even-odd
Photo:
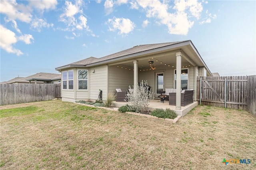
<svg viewBox="0 0 256 170"><path fill-rule="evenodd" d="M181 96L181 106L186 106L189 105L191 103L193 103L193 94L194 94L194 90L182 90L182 92L180 93ZM176 106L176 92L173 93L169 93L169 105L174 105Z"/></svg>

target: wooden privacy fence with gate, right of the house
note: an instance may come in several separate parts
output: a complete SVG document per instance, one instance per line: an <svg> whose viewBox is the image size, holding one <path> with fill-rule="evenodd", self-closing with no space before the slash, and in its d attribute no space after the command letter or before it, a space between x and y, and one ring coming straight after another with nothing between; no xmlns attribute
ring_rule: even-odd
<svg viewBox="0 0 256 170"><path fill-rule="evenodd" d="M198 77L197 92L203 105L244 109L256 115L256 75Z"/></svg>

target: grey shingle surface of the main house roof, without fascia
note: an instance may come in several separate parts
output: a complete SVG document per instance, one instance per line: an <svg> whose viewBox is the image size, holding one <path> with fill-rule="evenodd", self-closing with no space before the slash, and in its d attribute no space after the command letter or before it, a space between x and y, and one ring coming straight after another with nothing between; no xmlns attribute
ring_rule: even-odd
<svg viewBox="0 0 256 170"><path fill-rule="evenodd" d="M187 41L189 41L189 40L187 40ZM136 45L132 48L125 49L123 51L119 51L117 53L113 53L113 54L110 54L110 55L106 55L106 56L101 57L101 58L89 57L89 58L86 58L86 59L83 59L83 60L80 60L80 61L76 61L74 63L70 63L68 65L87 65L87 64L91 64L91 63L97 63L97 62L100 62L100 61L106 61L108 59L114 59L114 58L122 57L122 56L125 56L125 55L135 54L135 53L139 53L139 52L142 52L142 51L148 51L148 50L151 50L151 49L165 47L165 46L168 46L168 45L173 45L173 44L181 43L181 42L186 42L186 41Z"/></svg>

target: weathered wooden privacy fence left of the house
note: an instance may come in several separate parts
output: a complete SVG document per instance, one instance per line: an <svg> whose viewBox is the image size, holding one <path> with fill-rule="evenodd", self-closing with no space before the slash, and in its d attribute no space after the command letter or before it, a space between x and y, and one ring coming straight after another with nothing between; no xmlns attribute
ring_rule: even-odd
<svg viewBox="0 0 256 170"><path fill-rule="evenodd" d="M58 84L1 84L0 105L46 101L61 97Z"/></svg>

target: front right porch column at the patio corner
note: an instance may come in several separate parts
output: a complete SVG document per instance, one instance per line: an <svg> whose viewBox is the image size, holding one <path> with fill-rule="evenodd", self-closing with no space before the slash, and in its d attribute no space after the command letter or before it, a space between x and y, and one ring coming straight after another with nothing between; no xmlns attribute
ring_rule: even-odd
<svg viewBox="0 0 256 170"><path fill-rule="evenodd" d="M177 110L181 110L180 106L180 89L181 89L181 51L176 52L176 108Z"/></svg>

